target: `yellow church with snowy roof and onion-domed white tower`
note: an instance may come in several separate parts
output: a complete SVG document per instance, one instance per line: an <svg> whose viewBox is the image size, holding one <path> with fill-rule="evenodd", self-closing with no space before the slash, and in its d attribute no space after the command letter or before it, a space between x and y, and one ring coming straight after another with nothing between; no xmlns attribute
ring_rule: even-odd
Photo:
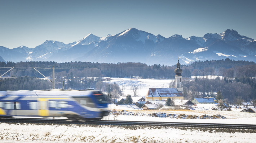
<svg viewBox="0 0 256 143"><path fill-rule="evenodd" d="M172 99L184 99L183 86L182 86L182 70L180 63L176 64L177 68L174 70L175 75L175 88L150 88L145 97L146 101L167 100L168 97Z"/></svg>

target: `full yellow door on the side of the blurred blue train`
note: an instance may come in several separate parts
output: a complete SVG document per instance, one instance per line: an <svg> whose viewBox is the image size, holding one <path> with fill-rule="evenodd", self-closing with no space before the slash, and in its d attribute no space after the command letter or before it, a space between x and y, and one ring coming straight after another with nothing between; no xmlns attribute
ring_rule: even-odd
<svg viewBox="0 0 256 143"><path fill-rule="evenodd" d="M37 99L38 103L38 115L49 116L49 101L46 98Z"/></svg>

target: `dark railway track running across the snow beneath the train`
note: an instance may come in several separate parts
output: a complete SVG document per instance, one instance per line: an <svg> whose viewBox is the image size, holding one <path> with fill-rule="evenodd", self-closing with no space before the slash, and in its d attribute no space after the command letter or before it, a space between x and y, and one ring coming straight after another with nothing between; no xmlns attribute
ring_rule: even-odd
<svg viewBox="0 0 256 143"><path fill-rule="evenodd" d="M162 127L191 127L191 128L225 128L225 129L252 129L253 124L218 124L218 123L184 123L184 122L155 122L155 121L67 121L65 119L35 119L35 118L11 118L1 119L0 123L51 123L51 124L96 124L96 125L144 125Z"/></svg>

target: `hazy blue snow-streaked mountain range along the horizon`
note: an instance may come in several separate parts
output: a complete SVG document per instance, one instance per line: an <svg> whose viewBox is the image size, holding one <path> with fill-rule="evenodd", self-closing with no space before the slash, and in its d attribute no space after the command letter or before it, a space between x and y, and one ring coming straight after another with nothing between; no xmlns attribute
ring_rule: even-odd
<svg viewBox="0 0 256 143"><path fill-rule="evenodd" d="M256 40L227 29L220 34L207 33L203 37L182 35L165 38L136 28L129 28L115 35L97 37L88 34L77 42L64 44L46 40L28 48L8 49L0 46L4 61L86 61L86 62L141 62L148 65L187 64L196 60L230 58L256 62Z"/></svg>

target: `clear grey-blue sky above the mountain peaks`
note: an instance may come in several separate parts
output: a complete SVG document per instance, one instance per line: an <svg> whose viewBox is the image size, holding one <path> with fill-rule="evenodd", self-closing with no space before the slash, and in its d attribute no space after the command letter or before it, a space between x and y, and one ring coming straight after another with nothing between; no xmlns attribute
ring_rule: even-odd
<svg viewBox="0 0 256 143"><path fill-rule="evenodd" d="M35 48L137 28L166 38L234 29L256 39L256 0L0 0L0 46Z"/></svg>

